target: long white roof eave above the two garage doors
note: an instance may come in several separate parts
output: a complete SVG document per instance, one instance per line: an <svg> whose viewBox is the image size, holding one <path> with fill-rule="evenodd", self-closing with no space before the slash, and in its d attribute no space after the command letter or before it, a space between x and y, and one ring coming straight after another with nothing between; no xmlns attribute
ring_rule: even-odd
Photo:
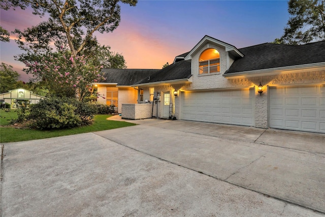
<svg viewBox="0 0 325 217"><path fill-rule="evenodd" d="M270 69L261 69L261 70L252 70L244 72L234 72L230 74L223 74L225 78L242 78L242 77L255 77L255 76L267 76L267 75L279 75L279 74L288 74L288 73L299 73L306 70L325 70L325 62L314 63L314 64L304 64L304 65L295 65L287 67L277 67Z"/></svg>

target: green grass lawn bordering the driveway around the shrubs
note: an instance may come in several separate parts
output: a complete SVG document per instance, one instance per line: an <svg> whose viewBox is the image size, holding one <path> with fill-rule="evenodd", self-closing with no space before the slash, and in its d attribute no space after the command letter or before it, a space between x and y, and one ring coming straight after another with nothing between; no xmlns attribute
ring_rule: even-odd
<svg viewBox="0 0 325 217"><path fill-rule="evenodd" d="M124 121L107 120L106 118L111 115L98 114L95 115L94 123L90 126L64 129L64 130L34 130L34 129L16 129L6 125L9 125L10 119L17 117L17 112L12 109L10 112L0 111L0 142L19 142L34 139L45 139L58 136L67 136L80 133L88 133L102 130L110 130L115 128L122 128L128 126L134 126L134 123Z"/></svg>

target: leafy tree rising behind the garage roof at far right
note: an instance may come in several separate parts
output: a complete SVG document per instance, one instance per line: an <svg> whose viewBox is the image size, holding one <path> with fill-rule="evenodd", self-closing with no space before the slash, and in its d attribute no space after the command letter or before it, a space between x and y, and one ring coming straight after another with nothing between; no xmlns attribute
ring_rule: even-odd
<svg viewBox="0 0 325 217"><path fill-rule="evenodd" d="M277 44L305 44L325 40L325 0L290 0L290 18Z"/></svg>

